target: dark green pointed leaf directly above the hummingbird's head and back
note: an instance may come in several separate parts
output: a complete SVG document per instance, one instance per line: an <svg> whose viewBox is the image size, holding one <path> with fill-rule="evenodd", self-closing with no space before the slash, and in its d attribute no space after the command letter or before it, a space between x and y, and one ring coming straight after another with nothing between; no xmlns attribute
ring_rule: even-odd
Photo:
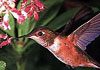
<svg viewBox="0 0 100 70"><path fill-rule="evenodd" d="M56 19L54 19L52 22L50 22L48 24L48 27L51 28L54 31L61 28L71 19L71 17L75 14L77 9L78 8L74 8L72 10L64 12L63 14L58 16Z"/></svg>

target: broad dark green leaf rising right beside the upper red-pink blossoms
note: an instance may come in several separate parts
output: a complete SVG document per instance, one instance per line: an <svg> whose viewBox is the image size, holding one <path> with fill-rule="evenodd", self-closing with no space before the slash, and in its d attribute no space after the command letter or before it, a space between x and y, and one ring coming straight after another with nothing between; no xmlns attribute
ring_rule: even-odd
<svg viewBox="0 0 100 70"><path fill-rule="evenodd" d="M43 3L46 8L43 12L39 13L39 21L36 26L47 25L58 14L63 0L48 0Z"/></svg>

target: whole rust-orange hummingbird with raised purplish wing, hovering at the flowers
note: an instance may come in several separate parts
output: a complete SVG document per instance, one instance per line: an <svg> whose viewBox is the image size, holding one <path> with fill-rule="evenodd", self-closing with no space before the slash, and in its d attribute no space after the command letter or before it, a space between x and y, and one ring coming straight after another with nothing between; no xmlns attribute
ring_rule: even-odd
<svg viewBox="0 0 100 70"><path fill-rule="evenodd" d="M100 69L100 64L86 52L86 46L100 35L100 13L78 27L68 36L61 35L46 26L33 29L28 37L48 49L58 60L71 67L92 67Z"/></svg>

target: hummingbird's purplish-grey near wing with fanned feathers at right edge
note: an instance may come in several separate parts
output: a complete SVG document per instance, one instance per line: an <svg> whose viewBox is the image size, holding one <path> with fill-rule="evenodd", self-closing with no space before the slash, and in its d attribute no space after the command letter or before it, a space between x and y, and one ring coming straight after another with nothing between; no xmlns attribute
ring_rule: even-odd
<svg viewBox="0 0 100 70"><path fill-rule="evenodd" d="M100 13L77 28L72 35L77 36L76 45L85 50L86 46L100 35Z"/></svg>

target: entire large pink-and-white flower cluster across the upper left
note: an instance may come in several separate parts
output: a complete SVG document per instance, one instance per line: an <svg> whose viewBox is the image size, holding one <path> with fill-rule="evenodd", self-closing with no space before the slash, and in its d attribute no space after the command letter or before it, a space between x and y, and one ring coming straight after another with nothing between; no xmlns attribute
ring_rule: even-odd
<svg viewBox="0 0 100 70"><path fill-rule="evenodd" d="M34 15L35 20L39 19L38 12L42 12L45 6L38 0L23 0L19 10L15 8L17 0L0 0L0 27L4 30L11 29L9 22L9 13L17 19L19 24L22 24L26 18ZM2 15L3 14L3 15Z"/></svg>

